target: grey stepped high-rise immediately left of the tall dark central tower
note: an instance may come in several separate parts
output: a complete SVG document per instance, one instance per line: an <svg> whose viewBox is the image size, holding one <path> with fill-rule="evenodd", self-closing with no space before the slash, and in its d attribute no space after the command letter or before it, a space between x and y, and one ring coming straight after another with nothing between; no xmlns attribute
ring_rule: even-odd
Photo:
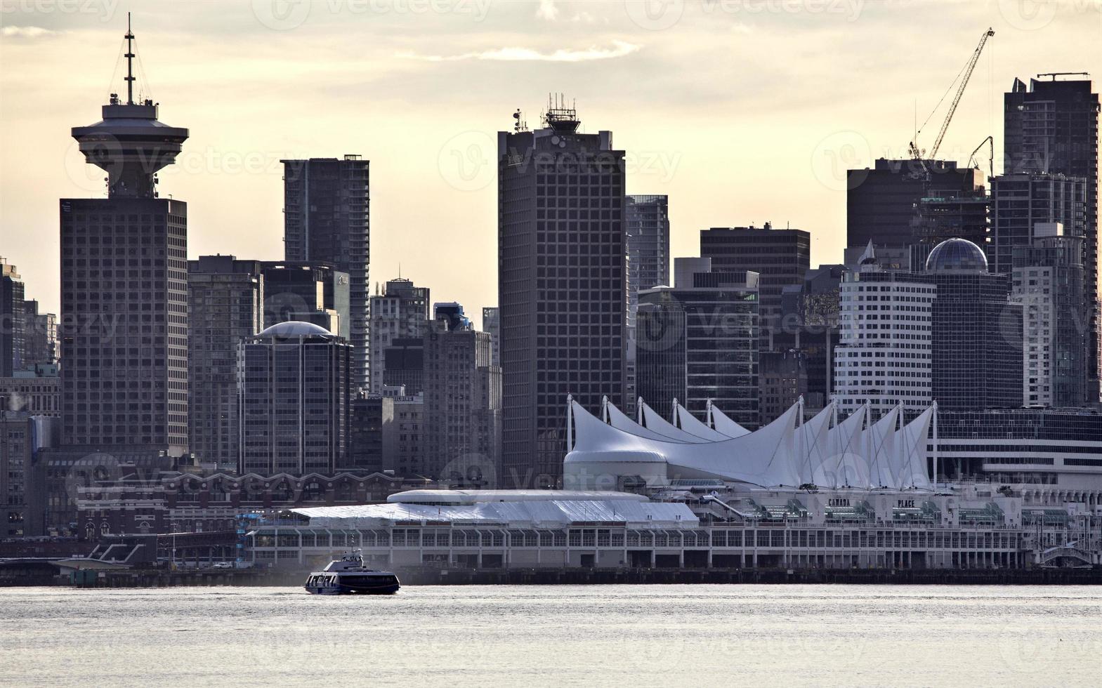
<svg viewBox="0 0 1102 688"><path fill-rule="evenodd" d="M425 473L465 478L497 471L501 374L490 364L490 337L437 319L424 335Z"/></svg>

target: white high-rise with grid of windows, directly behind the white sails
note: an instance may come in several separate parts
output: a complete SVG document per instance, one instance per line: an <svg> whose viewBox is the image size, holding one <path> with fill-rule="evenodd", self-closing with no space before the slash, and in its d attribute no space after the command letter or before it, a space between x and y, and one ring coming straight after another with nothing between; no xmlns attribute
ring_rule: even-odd
<svg viewBox="0 0 1102 688"><path fill-rule="evenodd" d="M839 411L869 404L880 415L897 404L925 409L933 401L932 310L938 287L925 273L884 270L872 247L842 275L834 350Z"/></svg>

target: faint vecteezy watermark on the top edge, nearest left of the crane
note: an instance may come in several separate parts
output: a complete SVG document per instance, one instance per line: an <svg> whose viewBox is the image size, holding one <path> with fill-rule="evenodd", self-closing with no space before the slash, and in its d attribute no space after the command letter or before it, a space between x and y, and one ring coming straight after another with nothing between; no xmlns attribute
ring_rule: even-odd
<svg viewBox="0 0 1102 688"><path fill-rule="evenodd" d="M705 17L759 14L832 14L855 21L866 0L624 0L624 10L639 28L670 29L681 21L687 8Z"/></svg>

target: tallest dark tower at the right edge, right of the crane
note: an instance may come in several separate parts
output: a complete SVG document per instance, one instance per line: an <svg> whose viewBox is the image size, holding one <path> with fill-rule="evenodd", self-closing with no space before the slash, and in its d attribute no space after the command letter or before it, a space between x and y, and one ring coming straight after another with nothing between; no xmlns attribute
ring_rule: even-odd
<svg viewBox="0 0 1102 688"><path fill-rule="evenodd" d="M1051 173L1085 181L1083 294L1088 327L1088 396L1099 400L1099 95L1090 79L1014 79L1004 102L1007 174ZM1061 221L1061 220L1049 220ZM1072 234L1070 227L1065 231Z"/></svg>

